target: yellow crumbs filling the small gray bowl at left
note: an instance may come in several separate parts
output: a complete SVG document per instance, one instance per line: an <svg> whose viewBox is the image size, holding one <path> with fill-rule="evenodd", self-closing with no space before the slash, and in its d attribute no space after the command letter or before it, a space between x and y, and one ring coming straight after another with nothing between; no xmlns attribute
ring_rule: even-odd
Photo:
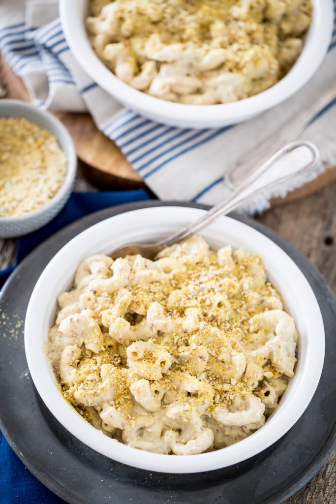
<svg viewBox="0 0 336 504"><path fill-rule="evenodd" d="M0 132L0 217L43 207L66 174L66 156L56 138L24 117L1 117Z"/></svg>

